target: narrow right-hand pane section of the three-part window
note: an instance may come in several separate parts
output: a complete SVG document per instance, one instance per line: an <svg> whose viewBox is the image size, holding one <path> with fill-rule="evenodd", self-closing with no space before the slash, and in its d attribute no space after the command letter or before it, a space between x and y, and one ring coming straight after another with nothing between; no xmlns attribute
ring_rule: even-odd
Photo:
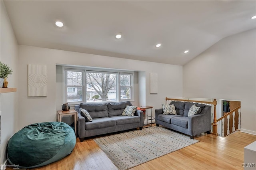
<svg viewBox="0 0 256 170"><path fill-rule="evenodd" d="M131 99L132 74L120 73L120 99Z"/></svg>

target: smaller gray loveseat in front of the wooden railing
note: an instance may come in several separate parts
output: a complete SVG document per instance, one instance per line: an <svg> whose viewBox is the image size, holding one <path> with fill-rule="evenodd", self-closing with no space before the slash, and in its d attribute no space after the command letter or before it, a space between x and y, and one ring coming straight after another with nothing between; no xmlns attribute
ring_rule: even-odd
<svg viewBox="0 0 256 170"><path fill-rule="evenodd" d="M196 134L210 133L212 127L211 106L181 101L172 101L170 104L174 104L177 115L164 115L163 109L155 109L156 126L162 125L182 132L192 139ZM188 111L194 104L200 107L200 111L198 114L188 117Z"/></svg>

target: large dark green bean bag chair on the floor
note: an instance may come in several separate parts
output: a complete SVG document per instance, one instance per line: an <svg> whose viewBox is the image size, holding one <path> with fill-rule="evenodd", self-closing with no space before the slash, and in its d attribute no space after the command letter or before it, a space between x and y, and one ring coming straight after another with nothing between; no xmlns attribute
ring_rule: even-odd
<svg viewBox="0 0 256 170"><path fill-rule="evenodd" d="M70 154L76 144L74 130L63 122L35 123L15 133L7 145L10 164L36 168Z"/></svg>

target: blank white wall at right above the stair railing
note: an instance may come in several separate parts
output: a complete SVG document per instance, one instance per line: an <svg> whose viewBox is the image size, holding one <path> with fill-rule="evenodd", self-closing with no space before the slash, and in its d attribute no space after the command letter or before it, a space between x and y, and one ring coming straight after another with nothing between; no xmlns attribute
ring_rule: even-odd
<svg viewBox="0 0 256 170"><path fill-rule="evenodd" d="M256 30L226 37L183 66L183 96L241 101L241 131L256 134Z"/></svg>

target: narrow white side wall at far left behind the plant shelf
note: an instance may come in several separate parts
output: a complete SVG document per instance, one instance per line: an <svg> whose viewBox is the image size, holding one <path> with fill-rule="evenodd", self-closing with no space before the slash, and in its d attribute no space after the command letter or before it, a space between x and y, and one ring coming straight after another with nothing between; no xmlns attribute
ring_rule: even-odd
<svg viewBox="0 0 256 170"><path fill-rule="evenodd" d="M12 69L12 75L7 78L8 87L17 87L18 82L18 43L14 36L12 26L6 12L4 2L1 0L1 62ZM6 146L8 140L17 131L17 92L0 94L1 110L1 164L6 160Z"/></svg>

